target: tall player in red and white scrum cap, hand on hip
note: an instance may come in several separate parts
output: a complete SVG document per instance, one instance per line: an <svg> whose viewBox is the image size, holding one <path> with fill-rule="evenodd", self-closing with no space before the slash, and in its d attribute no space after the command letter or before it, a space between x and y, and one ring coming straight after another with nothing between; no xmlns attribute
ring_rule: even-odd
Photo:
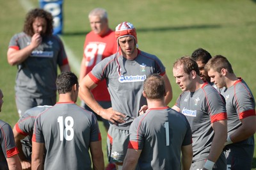
<svg viewBox="0 0 256 170"><path fill-rule="evenodd" d="M80 97L94 112L111 123L108 130L109 159L122 169L129 142L129 127L147 100L142 95L143 82L152 73L163 76L166 105L172 100L172 86L159 58L138 49L136 29L122 22L115 29L117 51L105 58L81 81ZM91 89L106 79L112 107L103 109L93 98Z"/></svg>

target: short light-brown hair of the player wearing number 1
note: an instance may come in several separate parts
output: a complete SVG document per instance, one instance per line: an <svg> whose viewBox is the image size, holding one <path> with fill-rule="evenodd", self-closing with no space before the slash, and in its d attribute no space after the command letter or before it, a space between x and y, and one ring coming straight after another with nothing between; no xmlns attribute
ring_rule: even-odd
<svg viewBox="0 0 256 170"><path fill-rule="evenodd" d="M148 75L144 81L143 90L148 99L161 99L165 95L164 79L156 73Z"/></svg>

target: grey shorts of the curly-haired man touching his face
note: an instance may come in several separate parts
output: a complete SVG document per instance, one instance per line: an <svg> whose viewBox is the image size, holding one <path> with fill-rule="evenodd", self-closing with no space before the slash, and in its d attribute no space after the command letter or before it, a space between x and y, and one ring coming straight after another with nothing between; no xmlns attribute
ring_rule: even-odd
<svg viewBox="0 0 256 170"><path fill-rule="evenodd" d="M19 116L24 114L25 111L36 107L38 105L54 105L56 104L56 96L50 98L29 98L29 97L15 97L17 111Z"/></svg>

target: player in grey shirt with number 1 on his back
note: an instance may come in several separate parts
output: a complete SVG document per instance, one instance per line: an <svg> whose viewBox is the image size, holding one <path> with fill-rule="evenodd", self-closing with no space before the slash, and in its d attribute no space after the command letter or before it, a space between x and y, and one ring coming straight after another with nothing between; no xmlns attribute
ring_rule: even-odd
<svg viewBox="0 0 256 170"><path fill-rule="evenodd" d="M164 103L163 77L152 74L143 84L147 111L132 121L123 170L189 169L192 162L192 134L188 120ZM180 160L180 153L182 158Z"/></svg>

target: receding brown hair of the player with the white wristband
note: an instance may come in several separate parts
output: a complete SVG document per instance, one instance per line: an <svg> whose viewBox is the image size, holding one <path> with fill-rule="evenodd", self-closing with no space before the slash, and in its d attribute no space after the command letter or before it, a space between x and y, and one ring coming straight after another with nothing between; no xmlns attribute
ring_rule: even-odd
<svg viewBox="0 0 256 170"><path fill-rule="evenodd" d="M197 75L200 75L200 71L196 61L189 56L183 56L182 58L177 59L177 61L173 63L173 68L177 68L178 65L182 65L184 72L187 74L191 73L191 71L194 70Z"/></svg>

